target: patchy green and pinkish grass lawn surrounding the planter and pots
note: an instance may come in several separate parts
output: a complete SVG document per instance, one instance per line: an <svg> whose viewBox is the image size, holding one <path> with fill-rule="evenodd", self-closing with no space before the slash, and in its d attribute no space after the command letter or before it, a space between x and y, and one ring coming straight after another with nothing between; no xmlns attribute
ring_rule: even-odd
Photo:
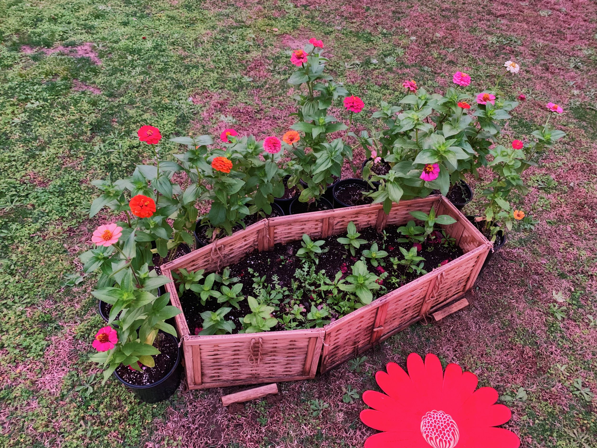
<svg viewBox="0 0 597 448"><path fill-rule="evenodd" d="M96 277L77 283L76 257L109 219L87 217L90 181L152 158L143 124L160 128L167 152L171 136L230 125L281 136L293 123L290 51L310 37L364 100L360 128L405 79L445 91L462 70L473 94L516 60L521 72L501 84L527 99L504 139L528 141L549 101L568 134L514 198L536 225L515 225L468 308L313 381L280 383L275 397L224 409L228 390L181 387L152 405L115 379L101 386L88 361L103 323ZM595 2L0 0L0 42L0 446L360 447L373 434L360 395L410 352L496 388L523 447L597 446ZM344 403L349 386L358 398Z"/></svg>

